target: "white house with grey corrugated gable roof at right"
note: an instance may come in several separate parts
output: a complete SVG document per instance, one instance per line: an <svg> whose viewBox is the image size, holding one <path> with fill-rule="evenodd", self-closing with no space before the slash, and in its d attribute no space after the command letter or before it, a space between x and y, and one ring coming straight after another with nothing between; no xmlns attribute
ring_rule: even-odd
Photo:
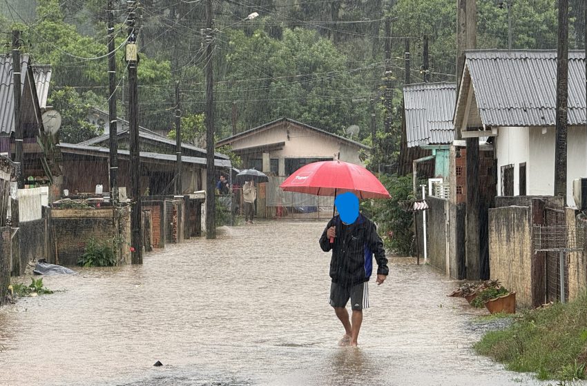
<svg viewBox="0 0 587 386"><path fill-rule="evenodd" d="M454 116L455 128L493 137L498 196L554 194L556 50L472 50ZM587 176L585 53L568 54L567 194ZM470 133L475 132L475 133Z"/></svg>

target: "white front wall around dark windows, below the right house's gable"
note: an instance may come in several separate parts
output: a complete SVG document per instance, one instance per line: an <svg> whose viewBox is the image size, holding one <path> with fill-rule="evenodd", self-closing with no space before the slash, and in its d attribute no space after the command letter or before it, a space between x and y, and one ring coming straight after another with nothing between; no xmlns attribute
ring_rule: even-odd
<svg viewBox="0 0 587 386"><path fill-rule="evenodd" d="M501 196L501 167L514 164L514 195L520 193L519 165L526 162L526 194L529 193L529 135L528 128L503 127L495 137L495 156L497 157L497 195Z"/></svg>

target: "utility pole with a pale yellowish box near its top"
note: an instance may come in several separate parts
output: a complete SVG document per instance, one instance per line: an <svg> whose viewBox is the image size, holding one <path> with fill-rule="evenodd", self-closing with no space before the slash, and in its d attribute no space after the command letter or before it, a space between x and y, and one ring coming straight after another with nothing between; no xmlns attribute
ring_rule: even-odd
<svg viewBox="0 0 587 386"><path fill-rule="evenodd" d="M133 264L143 263L142 247L142 208L141 208L141 161L139 158L139 106L137 65L138 28L135 26L137 17L137 1L127 0L128 3L128 41L126 42L126 61L128 62L128 124L129 124L129 148L131 152L131 230L132 249L131 261Z"/></svg>

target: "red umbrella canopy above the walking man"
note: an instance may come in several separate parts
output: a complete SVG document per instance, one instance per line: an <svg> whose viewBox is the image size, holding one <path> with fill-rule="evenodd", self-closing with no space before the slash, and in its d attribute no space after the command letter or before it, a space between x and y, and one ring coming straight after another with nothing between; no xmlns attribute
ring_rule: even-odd
<svg viewBox="0 0 587 386"><path fill-rule="evenodd" d="M336 196L352 192L359 199L389 199L385 186L369 170L354 163L320 161L300 167L280 185L287 192Z"/></svg>

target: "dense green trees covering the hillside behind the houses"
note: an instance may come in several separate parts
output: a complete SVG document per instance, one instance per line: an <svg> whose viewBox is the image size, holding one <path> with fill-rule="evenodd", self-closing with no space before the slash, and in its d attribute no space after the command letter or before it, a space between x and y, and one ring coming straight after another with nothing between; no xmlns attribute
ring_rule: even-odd
<svg viewBox="0 0 587 386"><path fill-rule="evenodd" d="M7 0L0 3L3 30L20 28L37 63L53 67L52 100L68 117L68 141L86 138L87 105L106 110L106 1ZM115 0L118 105L126 114L126 1ZM173 130L175 81L182 115L198 120L204 110L205 2L140 2L139 123ZM556 48L557 1L477 0L477 46ZM584 1L570 1L570 48L583 48ZM454 81L456 1L353 0L218 1L215 7L215 131L229 136L283 116L343 134L358 125L359 141L372 145L369 101L376 103L373 170L394 165L401 127L405 40L410 42L412 83L421 82L423 36L430 39L431 81ZM260 17L244 20L251 12ZM385 18L392 18L392 130L383 134ZM68 87L68 89L65 89ZM88 91L92 93L88 94ZM61 94L59 94L61 92ZM78 96L73 95L77 93ZM68 112L66 105L71 106ZM75 126L77 125L77 129ZM198 141L198 124L187 125ZM198 128L190 132L189 129ZM79 130L80 133L75 131ZM203 147L202 141L198 144ZM392 167L393 169L393 167ZM385 168L383 169L385 170Z"/></svg>

